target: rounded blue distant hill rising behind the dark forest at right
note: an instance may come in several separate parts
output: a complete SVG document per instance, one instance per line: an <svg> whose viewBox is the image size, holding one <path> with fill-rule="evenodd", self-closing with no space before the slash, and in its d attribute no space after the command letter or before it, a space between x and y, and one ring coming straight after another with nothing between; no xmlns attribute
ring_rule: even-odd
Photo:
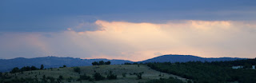
<svg viewBox="0 0 256 83"><path fill-rule="evenodd" d="M234 61L238 59L246 59L246 58L238 58L238 57L219 57L219 58L206 58L206 57L197 57L192 55L162 55L159 57L154 57L145 61L139 62L186 62L186 61Z"/></svg>

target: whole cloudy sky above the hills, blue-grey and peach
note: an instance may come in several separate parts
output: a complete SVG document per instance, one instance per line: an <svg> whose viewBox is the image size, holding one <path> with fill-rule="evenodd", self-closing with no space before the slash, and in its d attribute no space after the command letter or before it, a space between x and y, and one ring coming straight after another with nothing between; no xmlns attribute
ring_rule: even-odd
<svg viewBox="0 0 256 83"><path fill-rule="evenodd" d="M255 57L254 0L1 0L0 58Z"/></svg>

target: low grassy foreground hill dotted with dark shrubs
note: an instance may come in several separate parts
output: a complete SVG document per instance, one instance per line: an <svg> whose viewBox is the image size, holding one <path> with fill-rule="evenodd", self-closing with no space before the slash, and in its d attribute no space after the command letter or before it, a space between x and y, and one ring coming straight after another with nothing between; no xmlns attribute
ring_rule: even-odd
<svg viewBox="0 0 256 83"><path fill-rule="evenodd" d="M80 74L75 72L74 69L80 68ZM117 75L116 79L109 80L107 75L113 73ZM100 73L104 80L96 81L94 79L94 74ZM136 74L142 73L142 79L139 79ZM4 73L2 73L4 74ZM80 76L86 74L87 77L92 78L86 80L78 80ZM58 81L59 77L62 77ZM72 82L72 83L138 83L147 82L154 79L169 78L174 77L177 80L186 82L185 78L178 77L168 73L161 73L146 65L92 65L92 66L80 66L80 67L66 67L58 69L42 69L42 70L32 70L19 73L7 73L5 82L20 82L30 81L30 82ZM46 77L46 81L43 81L43 77ZM37 79L37 80L36 80ZM54 80L52 80L54 79ZM52 81L51 81L52 80ZM4 81L2 81L4 82Z"/></svg>

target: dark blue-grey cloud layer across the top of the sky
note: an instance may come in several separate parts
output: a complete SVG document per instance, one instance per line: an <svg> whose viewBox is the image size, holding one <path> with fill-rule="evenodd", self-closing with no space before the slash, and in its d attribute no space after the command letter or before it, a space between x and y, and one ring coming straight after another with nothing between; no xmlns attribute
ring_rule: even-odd
<svg viewBox="0 0 256 83"><path fill-rule="evenodd" d="M254 20L255 4L254 0L2 0L0 31L56 32L78 26L82 21L94 22L95 19L154 23L169 20Z"/></svg>

